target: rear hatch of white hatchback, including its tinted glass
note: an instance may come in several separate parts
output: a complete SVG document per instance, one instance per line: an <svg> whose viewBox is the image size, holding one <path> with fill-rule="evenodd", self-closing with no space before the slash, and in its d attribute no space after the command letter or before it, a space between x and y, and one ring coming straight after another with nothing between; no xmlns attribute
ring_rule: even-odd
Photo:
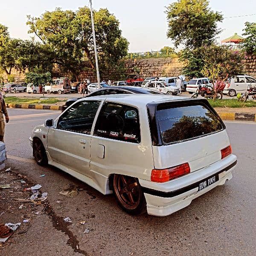
<svg viewBox="0 0 256 256"><path fill-rule="evenodd" d="M194 172L221 160L221 149L230 145L224 123L205 99L158 104L155 117L155 169L189 163Z"/></svg>

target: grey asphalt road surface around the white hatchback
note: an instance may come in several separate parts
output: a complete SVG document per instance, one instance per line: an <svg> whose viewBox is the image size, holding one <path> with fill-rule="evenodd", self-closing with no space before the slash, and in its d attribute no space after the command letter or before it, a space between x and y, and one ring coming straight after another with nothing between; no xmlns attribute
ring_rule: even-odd
<svg viewBox="0 0 256 256"><path fill-rule="evenodd" d="M256 123L226 122L238 156L233 179L167 217L130 216L113 195L95 189L54 167L40 167L32 158L28 137L35 125L58 111L10 109L6 125L7 167L41 184L49 193L48 210L31 217L26 232L16 233L2 247L9 255L255 255L256 247ZM44 177L39 177L45 174ZM83 191L74 198L60 195L68 184ZM1 193L1 192L0 192ZM0 201L1 202L1 201ZM17 204L18 206L19 204ZM0 222L21 221L21 213L1 216ZM32 209L32 210L33 210ZM50 210L49 210L50 209ZM11 217L12 219L10 219ZM63 218L70 217L72 224ZM84 225L80 221L86 221ZM90 229L89 233L83 233ZM0 247L1 251L1 247Z"/></svg>

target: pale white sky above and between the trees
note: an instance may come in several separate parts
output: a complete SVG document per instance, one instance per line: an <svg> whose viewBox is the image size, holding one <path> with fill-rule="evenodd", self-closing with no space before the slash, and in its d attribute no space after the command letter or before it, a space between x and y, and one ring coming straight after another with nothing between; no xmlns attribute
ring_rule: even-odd
<svg viewBox="0 0 256 256"><path fill-rule="evenodd" d="M129 52L159 50L171 46L167 39L167 20L165 6L174 0L92 0L93 8L108 8L120 22L122 35L130 42ZM224 17L256 14L256 0L210 0L214 11L222 12ZM9 27L12 38L28 39L26 15L38 17L45 11L56 7L77 10L89 6L89 0L12 0L1 3L0 23ZM219 24L224 31L219 41L237 32L241 35L246 21L256 22L256 15L224 19Z"/></svg>

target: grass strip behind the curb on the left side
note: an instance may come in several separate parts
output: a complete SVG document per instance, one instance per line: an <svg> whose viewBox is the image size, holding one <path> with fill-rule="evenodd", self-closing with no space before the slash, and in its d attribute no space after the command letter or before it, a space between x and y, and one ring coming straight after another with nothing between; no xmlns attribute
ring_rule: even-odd
<svg viewBox="0 0 256 256"><path fill-rule="evenodd" d="M4 101L9 104L55 104L57 102L65 102L67 99L40 99L40 98L20 98L20 97L5 97Z"/></svg>

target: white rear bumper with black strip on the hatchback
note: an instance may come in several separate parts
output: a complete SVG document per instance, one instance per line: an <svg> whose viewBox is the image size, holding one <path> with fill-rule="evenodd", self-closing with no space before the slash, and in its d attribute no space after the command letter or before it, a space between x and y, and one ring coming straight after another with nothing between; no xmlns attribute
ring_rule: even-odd
<svg viewBox="0 0 256 256"><path fill-rule="evenodd" d="M206 168L166 183L139 180L143 187L148 214L166 216L188 206L193 199L230 180L235 166L236 156L232 154ZM199 183L212 175L218 175L218 181L198 192Z"/></svg>

